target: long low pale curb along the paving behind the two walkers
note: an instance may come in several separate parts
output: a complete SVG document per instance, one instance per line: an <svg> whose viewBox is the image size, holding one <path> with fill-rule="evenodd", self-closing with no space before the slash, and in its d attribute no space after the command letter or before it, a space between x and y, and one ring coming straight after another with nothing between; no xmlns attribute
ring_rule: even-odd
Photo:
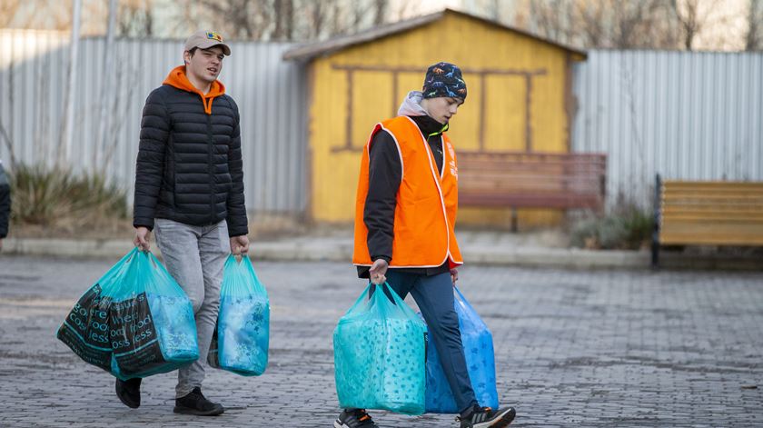
<svg viewBox="0 0 763 428"><path fill-rule="evenodd" d="M129 239L39 239L7 238L3 254L39 255L75 258L119 258L129 252ZM159 248L152 251L161 256ZM538 246L461 245L466 264L489 266L547 267L565 269L649 269L649 251L592 251L578 248L546 248ZM255 242L249 254L254 260L273 262L340 262L350 264L352 239L301 236L290 240ZM663 252L661 267L665 269L715 269L763 271L760 257L723 254L676 254Z"/></svg>

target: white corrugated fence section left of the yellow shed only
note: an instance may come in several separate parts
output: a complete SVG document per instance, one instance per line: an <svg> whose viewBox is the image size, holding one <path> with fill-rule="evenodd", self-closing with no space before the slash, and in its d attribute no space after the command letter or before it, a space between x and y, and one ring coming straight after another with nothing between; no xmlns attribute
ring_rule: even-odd
<svg viewBox="0 0 763 428"><path fill-rule="evenodd" d="M60 142L68 65L67 33L0 30L0 124L18 161L53 164ZM254 212L300 214L305 205L306 82L303 67L285 63L288 44L231 43L220 80L242 117L246 204ZM74 98L74 148L68 164L94 171L96 151L110 159L105 171L130 191L134 185L141 114L146 96L176 65L178 40L114 41L114 75L104 76L105 39L80 45ZM101 85L114 85L101 100ZM110 114L109 137L99 134L102 101ZM2 138L0 136L0 138ZM0 158L10 154L0 143ZM110 155L109 155L110 154Z"/></svg>

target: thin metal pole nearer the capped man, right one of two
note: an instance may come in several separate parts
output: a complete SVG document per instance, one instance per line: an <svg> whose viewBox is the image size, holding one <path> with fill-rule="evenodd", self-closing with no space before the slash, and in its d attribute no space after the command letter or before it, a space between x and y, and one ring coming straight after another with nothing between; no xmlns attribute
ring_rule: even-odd
<svg viewBox="0 0 763 428"><path fill-rule="evenodd" d="M114 85L116 83L111 78L114 75L114 25L116 23L117 0L109 0L109 25L106 29L106 46L104 56L104 67L101 74L101 121L98 128L98 139L95 141L94 170L103 173L106 170L104 163L104 153L106 151L106 141L109 140L107 133L110 130L111 115L109 108L113 107Z"/></svg>

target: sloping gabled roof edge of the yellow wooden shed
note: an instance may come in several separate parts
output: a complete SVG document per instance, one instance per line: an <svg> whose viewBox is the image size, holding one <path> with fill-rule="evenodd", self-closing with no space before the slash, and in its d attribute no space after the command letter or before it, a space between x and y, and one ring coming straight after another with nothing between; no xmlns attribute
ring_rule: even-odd
<svg viewBox="0 0 763 428"><path fill-rule="evenodd" d="M283 54L283 59L296 60L296 61L310 61L312 58L319 55L332 54L333 52L340 51L352 45L361 45L364 43L372 42L374 40L380 39L381 37L385 37L387 35L394 35L396 33L406 32L406 31L418 28L421 25L427 25L432 22L439 21L446 14L466 16L471 19L479 20L482 23L487 25L497 26L501 29L509 30L511 32L514 32L520 35L526 35L542 43L559 47L560 49L568 51L572 54L581 55L583 58L586 58L588 56L585 51L582 51L580 49L576 49L568 45L562 45L550 39L539 37L538 35L532 35L526 31L514 28L512 26L500 24L497 21L493 21L490 19L483 18L481 16L471 15L465 12L460 12L460 11L456 11L452 9L443 9L440 12L435 12L430 15L421 15L421 16L416 16L414 18L406 19L406 20L399 21L392 24L375 26L373 28L370 28L368 30L365 30L353 35L340 35L340 36L332 37L328 40L324 40L322 42L314 42L314 43L309 43L305 45L298 45L286 51Z"/></svg>

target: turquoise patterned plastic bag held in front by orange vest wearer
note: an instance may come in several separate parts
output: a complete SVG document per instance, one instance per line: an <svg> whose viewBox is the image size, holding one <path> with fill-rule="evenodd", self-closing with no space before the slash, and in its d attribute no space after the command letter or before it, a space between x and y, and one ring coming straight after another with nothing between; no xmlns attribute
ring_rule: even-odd
<svg viewBox="0 0 763 428"><path fill-rule="evenodd" d="M333 333L340 406L423 413L425 332L389 284L369 284Z"/></svg>

